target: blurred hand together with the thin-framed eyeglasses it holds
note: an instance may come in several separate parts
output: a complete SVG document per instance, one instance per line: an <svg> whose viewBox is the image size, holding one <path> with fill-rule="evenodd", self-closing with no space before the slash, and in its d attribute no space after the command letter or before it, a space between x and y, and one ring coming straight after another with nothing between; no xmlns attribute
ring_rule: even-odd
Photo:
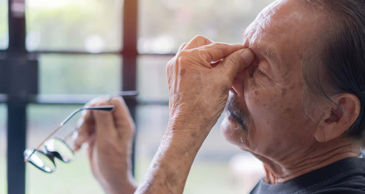
<svg viewBox="0 0 365 194"><path fill-rule="evenodd" d="M89 145L88 154L93 175L107 193L118 193L121 190L133 193L136 186L131 170L131 153L135 125L123 98L120 97L123 95L137 95L137 92L124 91L100 96L74 110L37 149L24 151L24 160L44 172L55 170L55 157L64 162L72 161L74 152L69 145L64 140L50 137L73 115L84 110L77 130L70 133L77 134L74 151L80 149L84 143ZM45 146L45 151L40 150L42 145Z"/></svg>

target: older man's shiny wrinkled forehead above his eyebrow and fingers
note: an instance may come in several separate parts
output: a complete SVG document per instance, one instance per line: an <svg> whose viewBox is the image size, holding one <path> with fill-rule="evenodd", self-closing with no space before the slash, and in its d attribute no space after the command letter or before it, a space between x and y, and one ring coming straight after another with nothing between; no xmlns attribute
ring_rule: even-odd
<svg viewBox="0 0 365 194"><path fill-rule="evenodd" d="M271 50L277 57L278 68L282 70L288 71L295 65L300 68L301 54L315 36L316 22L309 3L302 0L275 1L246 28L245 46L253 46L256 53Z"/></svg>

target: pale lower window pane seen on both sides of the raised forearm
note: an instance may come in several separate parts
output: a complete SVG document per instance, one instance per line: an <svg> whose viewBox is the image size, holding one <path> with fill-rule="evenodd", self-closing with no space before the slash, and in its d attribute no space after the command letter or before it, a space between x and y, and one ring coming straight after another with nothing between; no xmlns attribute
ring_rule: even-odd
<svg viewBox="0 0 365 194"><path fill-rule="evenodd" d="M141 182L160 145L168 119L168 106L137 107L138 182ZM219 128L222 119L223 116L213 127L196 156L184 189L186 194L248 193L264 176L261 161L224 140Z"/></svg>

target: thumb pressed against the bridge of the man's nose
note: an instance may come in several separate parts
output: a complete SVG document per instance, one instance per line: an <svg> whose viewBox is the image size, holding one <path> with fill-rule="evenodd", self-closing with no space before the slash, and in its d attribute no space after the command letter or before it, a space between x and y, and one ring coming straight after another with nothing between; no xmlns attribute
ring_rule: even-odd
<svg viewBox="0 0 365 194"><path fill-rule="evenodd" d="M237 50L224 58L222 64L219 65L219 71L226 72L233 80L240 71L253 62L254 58L255 54L250 49Z"/></svg>

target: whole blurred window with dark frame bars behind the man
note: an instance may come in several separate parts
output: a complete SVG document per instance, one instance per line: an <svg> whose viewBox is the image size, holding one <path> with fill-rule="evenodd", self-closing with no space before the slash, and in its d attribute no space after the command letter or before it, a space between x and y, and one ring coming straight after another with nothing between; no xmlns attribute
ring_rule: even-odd
<svg viewBox="0 0 365 194"><path fill-rule="evenodd" d="M102 193L85 150L70 164L56 161L54 174L24 166L22 152L81 103L120 90L140 94L127 103L137 124L134 167L141 181L168 122L166 63L197 34L243 43L245 27L272 1L0 0L0 194ZM76 120L55 136L72 131ZM262 177L260 161L223 139L221 121L184 193L247 193Z"/></svg>

